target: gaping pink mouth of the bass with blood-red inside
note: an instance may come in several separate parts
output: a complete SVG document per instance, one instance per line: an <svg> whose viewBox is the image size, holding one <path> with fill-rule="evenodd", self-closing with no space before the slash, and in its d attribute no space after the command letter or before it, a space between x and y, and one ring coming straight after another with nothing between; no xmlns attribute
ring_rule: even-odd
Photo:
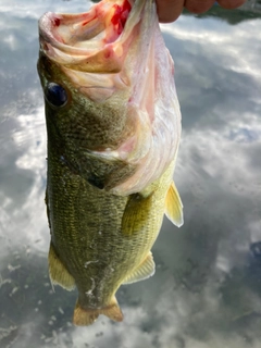
<svg viewBox="0 0 261 348"><path fill-rule="evenodd" d="M117 73L146 0L107 0L80 14L47 12L39 20L40 50L64 67Z"/></svg>

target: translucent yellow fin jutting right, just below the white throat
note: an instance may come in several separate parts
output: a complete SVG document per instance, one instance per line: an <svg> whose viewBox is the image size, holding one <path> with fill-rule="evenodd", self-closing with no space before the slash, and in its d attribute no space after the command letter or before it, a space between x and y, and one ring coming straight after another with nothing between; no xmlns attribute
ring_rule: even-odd
<svg viewBox="0 0 261 348"><path fill-rule="evenodd" d="M183 203L174 182L172 182L166 194L165 214L177 227L183 225Z"/></svg>

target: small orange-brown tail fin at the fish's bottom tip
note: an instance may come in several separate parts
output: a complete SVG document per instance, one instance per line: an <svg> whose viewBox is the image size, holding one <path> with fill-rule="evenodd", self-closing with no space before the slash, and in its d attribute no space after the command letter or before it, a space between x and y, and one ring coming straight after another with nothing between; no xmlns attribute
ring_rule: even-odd
<svg viewBox="0 0 261 348"><path fill-rule="evenodd" d="M110 318L111 320L114 320L115 322L123 321L122 310L117 304L116 298L113 297L111 302L107 307L99 308L99 309L91 309L91 308L83 309L79 306L77 300L74 309L73 323L74 325L77 325L77 326L91 325L100 314L107 315L108 318Z"/></svg>

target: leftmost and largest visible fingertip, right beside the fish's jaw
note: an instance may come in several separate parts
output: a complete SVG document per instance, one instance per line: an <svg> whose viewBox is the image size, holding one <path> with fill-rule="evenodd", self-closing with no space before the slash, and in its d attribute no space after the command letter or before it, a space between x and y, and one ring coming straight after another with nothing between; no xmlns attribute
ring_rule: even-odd
<svg viewBox="0 0 261 348"><path fill-rule="evenodd" d="M184 0L156 0L159 21L170 23L176 21L183 11Z"/></svg>

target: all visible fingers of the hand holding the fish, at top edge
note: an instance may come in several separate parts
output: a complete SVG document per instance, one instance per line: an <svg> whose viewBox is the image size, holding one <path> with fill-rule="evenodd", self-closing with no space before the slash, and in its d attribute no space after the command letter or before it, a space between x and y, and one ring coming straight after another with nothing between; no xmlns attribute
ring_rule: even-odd
<svg viewBox="0 0 261 348"><path fill-rule="evenodd" d="M244 4L246 0L217 0L224 9L236 9ZM192 13L207 12L214 4L215 0L156 0L159 21L170 23L176 21L183 8Z"/></svg>

